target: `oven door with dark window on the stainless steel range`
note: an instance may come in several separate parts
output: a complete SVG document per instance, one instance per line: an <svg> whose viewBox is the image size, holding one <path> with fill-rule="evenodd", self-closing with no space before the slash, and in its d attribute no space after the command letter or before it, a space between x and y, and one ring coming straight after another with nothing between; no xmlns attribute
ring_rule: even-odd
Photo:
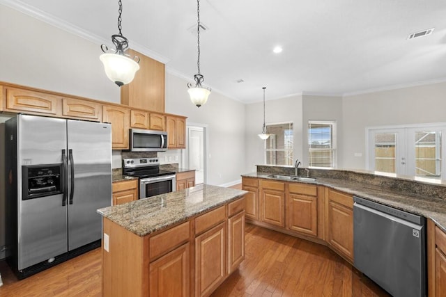
<svg viewBox="0 0 446 297"><path fill-rule="evenodd" d="M176 176L163 175L139 180L139 199L155 195L174 192L176 190Z"/></svg>

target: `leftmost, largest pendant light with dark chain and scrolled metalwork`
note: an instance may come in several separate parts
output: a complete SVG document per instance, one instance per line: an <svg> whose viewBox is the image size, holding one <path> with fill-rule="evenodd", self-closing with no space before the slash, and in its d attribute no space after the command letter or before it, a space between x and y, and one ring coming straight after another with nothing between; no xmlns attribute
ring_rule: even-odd
<svg viewBox="0 0 446 297"><path fill-rule="evenodd" d="M104 64L107 77L116 83L116 85L123 86L130 83L134 78L134 74L139 70L139 57L134 56L131 58L124 52L128 48L128 39L121 33L121 14L123 12L123 3L121 0L118 1L118 5L119 33L112 35L112 42L116 46L116 49L109 51L107 45L101 45L100 49L102 49L104 54L100 55L99 58Z"/></svg>

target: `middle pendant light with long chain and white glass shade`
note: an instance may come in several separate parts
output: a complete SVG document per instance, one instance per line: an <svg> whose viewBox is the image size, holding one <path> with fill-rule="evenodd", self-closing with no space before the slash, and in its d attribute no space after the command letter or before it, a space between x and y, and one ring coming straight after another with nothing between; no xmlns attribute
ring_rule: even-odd
<svg viewBox="0 0 446 297"><path fill-rule="evenodd" d="M193 104L200 107L208 101L208 97L210 94L210 88L203 88L201 83L204 81L203 75L200 74L200 0L197 0L197 15L198 15L198 24L197 24L197 45L198 45L198 59L197 59L197 67L198 74L194 75L195 86L192 83L187 83L187 93L190 95L190 101Z"/></svg>

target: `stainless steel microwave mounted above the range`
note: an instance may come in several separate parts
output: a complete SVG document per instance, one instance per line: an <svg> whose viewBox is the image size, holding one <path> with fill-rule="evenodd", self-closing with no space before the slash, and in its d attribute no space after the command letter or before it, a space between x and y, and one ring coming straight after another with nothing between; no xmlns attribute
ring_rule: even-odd
<svg viewBox="0 0 446 297"><path fill-rule="evenodd" d="M131 152L167 151L167 132L144 129L130 129Z"/></svg>

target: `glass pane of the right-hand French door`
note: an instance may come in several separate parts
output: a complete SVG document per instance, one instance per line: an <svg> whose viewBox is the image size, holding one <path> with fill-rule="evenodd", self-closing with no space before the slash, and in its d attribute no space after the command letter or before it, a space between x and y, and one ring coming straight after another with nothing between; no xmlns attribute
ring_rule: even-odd
<svg viewBox="0 0 446 297"><path fill-rule="evenodd" d="M440 177L441 132L415 132L415 175L419 177Z"/></svg>

